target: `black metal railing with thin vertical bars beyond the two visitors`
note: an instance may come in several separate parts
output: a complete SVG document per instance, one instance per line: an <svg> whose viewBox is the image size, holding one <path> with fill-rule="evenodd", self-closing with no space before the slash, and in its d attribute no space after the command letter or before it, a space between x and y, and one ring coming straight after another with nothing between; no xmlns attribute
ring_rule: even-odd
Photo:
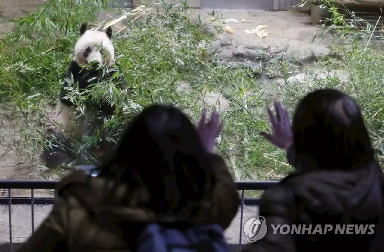
<svg viewBox="0 0 384 252"><path fill-rule="evenodd" d="M35 231L35 205L39 204L54 204L56 197L56 184L58 181L48 180L0 180L0 188L6 189L8 192L7 196L0 196L0 205L8 205L8 219L9 219L9 249L4 250L0 248L0 252L10 251L13 252L13 241L12 241L12 206L15 204L31 205L31 226L33 233ZM240 231L239 231L239 244L240 250L242 247L242 236L243 236L243 214L244 206L259 204L260 198L245 198L244 192L246 190L266 190L274 186L278 181L239 181L236 182L237 189L241 191L241 209L240 209ZM30 189L30 197L12 197L12 189ZM35 189L51 189L55 191L55 196L50 198L36 198L34 195ZM48 214L48 213L47 213ZM1 244L0 244L1 245Z"/></svg>

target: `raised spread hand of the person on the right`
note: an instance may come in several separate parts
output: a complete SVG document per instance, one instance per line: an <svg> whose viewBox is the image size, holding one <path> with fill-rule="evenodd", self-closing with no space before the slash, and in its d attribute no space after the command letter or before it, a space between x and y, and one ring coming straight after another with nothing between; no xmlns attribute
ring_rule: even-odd
<svg viewBox="0 0 384 252"><path fill-rule="evenodd" d="M270 108L267 109L269 120L271 122L272 133L260 132L262 137L268 139L277 147L288 150L293 143L292 122L289 118L288 110L283 109L280 102L274 102L276 115L272 113Z"/></svg>

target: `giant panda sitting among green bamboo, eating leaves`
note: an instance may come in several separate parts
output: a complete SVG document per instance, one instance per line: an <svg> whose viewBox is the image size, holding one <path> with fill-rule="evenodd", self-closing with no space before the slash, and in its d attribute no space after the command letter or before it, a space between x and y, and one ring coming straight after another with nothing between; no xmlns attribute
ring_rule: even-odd
<svg viewBox="0 0 384 252"><path fill-rule="evenodd" d="M74 152L71 150L70 142L66 139L66 133L88 133L81 120L74 123L76 118L76 107L71 100L66 99L68 90L66 87L70 85L68 80L73 76L74 83L78 84L79 89L85 89L91 84L98 83L99 81L111 78L116 71L120 69L113 69L114 66L114 46L112 43L112 28L109 26L105 32L87 30L87 24L83 23L80 28L80 37L74 47L74 59L71 60L70 66L66 74L66 81L61 87L59 99L56 106L55 122L61 125L58 129L55 126L48 128L47 133L50 135L50 146L43 150L42 158L46 166L52 167L62 163L71 161L75 158ZM100 68L86 68L84 71L83 64L94 62L97 65L105 64L109 72L102 74ZM124 77L120 74L117 82L114 83L120 89L126 88ZM109 116L114 113L114 107L108 103L103 104L101 107L93 104L91 108L87 106L87 110L100 110L104 116ZM84 122L84 119L83 119ZM89 130L89 129L88 129Z"/></svg>

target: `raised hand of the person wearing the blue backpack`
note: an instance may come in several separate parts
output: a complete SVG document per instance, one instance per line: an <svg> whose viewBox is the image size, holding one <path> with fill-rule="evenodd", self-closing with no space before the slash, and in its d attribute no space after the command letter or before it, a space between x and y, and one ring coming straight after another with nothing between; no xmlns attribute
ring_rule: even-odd
<svg viewBox="0 0 384 252"><path fill-rule="evenodd" d="M205 122L206 116L207 110L203 109L200 114L199 124L197 125L197 132L200 135L205 150L212 153L215 146L215 140L223 129L223 124L220 123L220 115L216 111L212 113L207 123Z"/></svg>

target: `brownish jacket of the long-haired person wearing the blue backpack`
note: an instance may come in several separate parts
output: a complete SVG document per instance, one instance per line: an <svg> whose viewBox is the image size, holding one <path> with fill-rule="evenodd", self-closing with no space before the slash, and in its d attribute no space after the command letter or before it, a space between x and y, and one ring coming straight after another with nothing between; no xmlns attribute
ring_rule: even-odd
<svg viewBox="0 0 384 252"><path fill-rule="evenodd" d="M235 217L240 199L223 159L217 155L211 157L216 181L212 202L201 202L200 213L194 214L194 224L215 222L225 229ZM111 195L117 204L104 204L106 192L114 184L113 180L91 177L83 171L68 175L58 185L58 198L50 215L17 251L134 249L142 223L161 221L161 217L138 206L151 197L144 186L129 189L119 184Z"/></svg>

